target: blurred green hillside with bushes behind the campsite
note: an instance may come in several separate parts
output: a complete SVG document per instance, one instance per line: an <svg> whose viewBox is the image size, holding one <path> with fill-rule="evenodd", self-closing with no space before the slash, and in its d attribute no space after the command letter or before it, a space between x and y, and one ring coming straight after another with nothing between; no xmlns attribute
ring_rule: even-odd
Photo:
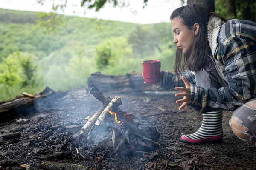
<svg viewBox="0 0 256 170"><path fill-rule="evenodd" d="M135 24L61 16L56 32L36 28L38 15L0 9L0 99L22 90L35 93L45 85L67 90L84 87L95 71L141 72L141 61L161 59L172 69L171 23ZM25 64L24 64L25 63Z"/></svg>

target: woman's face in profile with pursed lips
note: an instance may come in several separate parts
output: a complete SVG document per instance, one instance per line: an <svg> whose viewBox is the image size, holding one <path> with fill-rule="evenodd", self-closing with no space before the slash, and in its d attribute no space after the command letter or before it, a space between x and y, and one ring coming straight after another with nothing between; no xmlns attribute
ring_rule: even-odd
<svg viewBox="0 0 256 170"><path fill-rule="evenodd" d="M173 43L177 44L177 48L182 49L184 54L192 51L195 34L198 31L188 29L188 26L180 22L180 17L173 18L172 31L174 32Z"/></svg>

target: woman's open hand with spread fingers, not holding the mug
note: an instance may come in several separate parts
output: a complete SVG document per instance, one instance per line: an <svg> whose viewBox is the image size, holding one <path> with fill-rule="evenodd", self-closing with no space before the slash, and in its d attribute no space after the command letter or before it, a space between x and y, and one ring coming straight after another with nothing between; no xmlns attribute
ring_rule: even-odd
<svg viewBox="0 0 256 170"><path fill-rule="evenodd" d="M189 83L189 81L184 76L182 76L181 79L185 83L186 88L182 88L182 87L174 88L174 90L176 90L176 91L182 91L183 92L183 93L176 93L175 94L176 97L183 96L183 99L180 99L180 100L176 101L176 103L182 103L179 110L181 110L182 108L184 108L188 104L189 96L190 96L190 83Z"/></svg>

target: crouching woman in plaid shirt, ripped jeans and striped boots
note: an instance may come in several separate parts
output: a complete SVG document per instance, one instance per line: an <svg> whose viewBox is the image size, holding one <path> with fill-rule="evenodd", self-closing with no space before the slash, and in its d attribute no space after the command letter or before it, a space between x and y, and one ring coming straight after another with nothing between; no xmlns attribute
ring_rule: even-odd
<svg viewBox="0 0 256 170"><path fill-rule="evenodd" d="M183 97L179 110L188 105L203 114L198 131L181 141L221 141L223 110L234 111L236 136L256 141L256 23L224 20L198 4L177 8L170 18L175 73L161 71L160 87L183 92L175 94Z"/></svg>

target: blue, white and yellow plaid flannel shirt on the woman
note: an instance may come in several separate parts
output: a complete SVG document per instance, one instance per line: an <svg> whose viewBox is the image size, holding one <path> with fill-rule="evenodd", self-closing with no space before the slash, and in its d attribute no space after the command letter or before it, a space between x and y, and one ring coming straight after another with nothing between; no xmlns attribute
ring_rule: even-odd
<svg viewBox="0 0 256 170"><path fill-rule="evenodd" d="M178 77L169 71L161 72L160 86L169 91L175 87L185 87L182 75L188 79L191 90L188 105L200 113L233 111L256 97L256 23L228 20L221 26L217 42L213 59L228 87L215 89L196 86L191 71L185 71Z"/></svg>

